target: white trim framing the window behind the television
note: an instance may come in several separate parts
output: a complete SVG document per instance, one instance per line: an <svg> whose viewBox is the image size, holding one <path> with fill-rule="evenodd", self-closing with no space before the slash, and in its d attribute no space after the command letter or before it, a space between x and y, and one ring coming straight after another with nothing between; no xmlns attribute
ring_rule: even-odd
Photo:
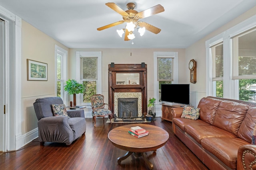
<svg viewBox="0 0 256 170"><path fill-rule="evenodd" d="M178 83L178 52L154 52L154 98L156 99L156 104L159 104L159 82L158 78L158 62L157 58L173 58L173 81L172 83Z"/></svg>

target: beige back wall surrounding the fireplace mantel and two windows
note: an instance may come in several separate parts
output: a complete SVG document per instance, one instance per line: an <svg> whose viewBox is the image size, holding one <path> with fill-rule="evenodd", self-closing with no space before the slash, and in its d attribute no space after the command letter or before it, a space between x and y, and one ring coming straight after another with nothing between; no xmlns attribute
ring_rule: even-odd
<svg viewBox="0 0 256 170"><path fill-rule="evenodd" d="M154 97L154 51L178 52L179 83L184 83L185 49L70 49L69 78L76 78L76 51L102 51L102 94L108 102L108 64L147 64L148 98ZM131 56L132 52L132 56Z"/></svg>

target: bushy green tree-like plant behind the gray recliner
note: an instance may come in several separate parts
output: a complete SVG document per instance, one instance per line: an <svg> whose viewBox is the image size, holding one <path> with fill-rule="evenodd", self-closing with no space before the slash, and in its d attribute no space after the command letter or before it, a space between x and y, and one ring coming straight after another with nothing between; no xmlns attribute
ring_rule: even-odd
<svg viewBox="0 0 256 170"><path fill-rule="evenodd" d="M73 102L74 102L74 106L76 106L76 94L83 93L84 86L83 84L77 82L74 79L72 80L68 79L68 81L66 81L66 84L64 86L64 90L68 92L69 95L73 94Z"/></svg>

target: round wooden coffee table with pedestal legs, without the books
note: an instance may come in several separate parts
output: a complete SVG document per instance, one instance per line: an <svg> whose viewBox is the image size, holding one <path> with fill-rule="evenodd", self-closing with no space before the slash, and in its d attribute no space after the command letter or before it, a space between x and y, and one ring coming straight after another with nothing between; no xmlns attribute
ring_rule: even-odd
<svg viewBox="0 0 256 170"><path fill-rule="evenodd" d="M128 133L129 129L134 126L142 127L148 131L148 135L140 138L136 138ZM144 158L148 168L153 169L153 164L148 160L145 152L154 151L164 146L169 139L169 134L160 127L148 124L130 124L112 129L108 133L108 139L114 146L119 149L127 150L126 154L117 158L118 164L122 160L128 158L132 153L136 156L140 155Z"/></svg>

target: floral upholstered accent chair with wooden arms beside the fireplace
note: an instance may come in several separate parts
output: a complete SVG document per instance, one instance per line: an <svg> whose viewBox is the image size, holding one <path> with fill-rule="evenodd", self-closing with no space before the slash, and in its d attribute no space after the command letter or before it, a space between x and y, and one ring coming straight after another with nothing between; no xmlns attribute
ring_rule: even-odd
<svg viewBox="0 0 256 170"><path fill-rule="evenodd" d="M92 103L92 122L94 122L94 127L96 126L96 117L104 117L108 115L112 119L112 111L110 111L109 104L104 103L104 96L101 94L94 94L91 96ZM108 105L108 109L105 108L105 105Z"/></svg>

